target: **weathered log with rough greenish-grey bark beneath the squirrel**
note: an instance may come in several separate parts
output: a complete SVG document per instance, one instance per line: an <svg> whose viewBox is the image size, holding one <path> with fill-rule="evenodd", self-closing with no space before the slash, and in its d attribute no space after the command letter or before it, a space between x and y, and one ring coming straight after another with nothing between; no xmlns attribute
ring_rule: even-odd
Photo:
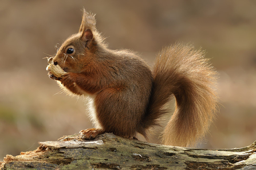
<svg viewBox="0 0 256 170"><path fill-rule="evenodd" d="M256 142L239 149L150 144L111 133L40 142L35 151L6 155L1 169L256 169Z"/></svg>

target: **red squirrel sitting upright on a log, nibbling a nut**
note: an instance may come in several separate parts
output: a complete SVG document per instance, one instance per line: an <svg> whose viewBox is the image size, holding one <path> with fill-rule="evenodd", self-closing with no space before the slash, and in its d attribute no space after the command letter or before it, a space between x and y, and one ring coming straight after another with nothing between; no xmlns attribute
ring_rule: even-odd
<svg viewBox="0 0 256 170"><path fill-rule="evenodd" d="M85 139L105 132L148 139L160 126L175 97L176 109L164 129L162 143L190 147L202 140L214 118L216 71L202 50L176 43L163 48L151 69L131 50L111 50L96 29L93 13L83 9L78 33L51 58L63 74L49 77L62 89L92 100L89 114L95 128L80 131Z"/></svg>

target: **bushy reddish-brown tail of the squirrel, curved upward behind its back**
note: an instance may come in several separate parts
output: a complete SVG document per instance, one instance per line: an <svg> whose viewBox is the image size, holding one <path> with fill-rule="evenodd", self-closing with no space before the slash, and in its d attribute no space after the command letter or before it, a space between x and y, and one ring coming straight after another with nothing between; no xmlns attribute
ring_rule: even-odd
<svg viewBox="0 0 256 170"><path fill-rule="evenodd" d="M195 145L208 131L216 109L216 72L201 50L175 44L162 50L153 68L153 91L147 125L157 124L168 110L164 105L174 94L176 110L163 133L163 144Z"/></svg>

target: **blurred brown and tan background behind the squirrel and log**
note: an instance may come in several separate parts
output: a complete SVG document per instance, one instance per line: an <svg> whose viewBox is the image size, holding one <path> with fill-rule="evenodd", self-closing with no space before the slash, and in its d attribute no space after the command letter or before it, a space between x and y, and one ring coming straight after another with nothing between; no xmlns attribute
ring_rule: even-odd
<svg viewBox="0 0 256 170"><path fill-rule="evenodd" d="M77 33L82 7L97 14L109 48L135 50L149 65L175 42L206 50L219 72L220 112L198 147L239 148L256 140L256 1L2 0L0 161L92 127L82 97L60 93L43 59Z"/></svg>

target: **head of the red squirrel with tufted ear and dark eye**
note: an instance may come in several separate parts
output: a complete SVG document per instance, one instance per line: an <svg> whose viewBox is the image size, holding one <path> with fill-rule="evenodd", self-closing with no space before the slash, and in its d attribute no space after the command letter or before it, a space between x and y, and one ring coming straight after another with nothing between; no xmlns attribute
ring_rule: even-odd
<svg viewBox="0 0 256 170"><path fill-rule="evenodd" d="M57 50L53 63L60 65L65 72L80 73L94 60L94 54L101 41L96 29L95 15L87 13L84 9L78 33L66 39Z"/></svg>

